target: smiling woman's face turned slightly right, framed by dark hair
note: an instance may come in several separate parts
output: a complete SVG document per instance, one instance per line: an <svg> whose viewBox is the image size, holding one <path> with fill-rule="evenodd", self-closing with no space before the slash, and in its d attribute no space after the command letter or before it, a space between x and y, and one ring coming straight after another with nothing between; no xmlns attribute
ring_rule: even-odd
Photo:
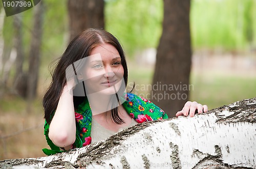
<svg viewBox="0 0 256 169"><path fill-rule="evenodd" d="M117 93L123 81L123 66L117 49L100 44L92 49L82 72L86 93L111 95Z"/></svg>

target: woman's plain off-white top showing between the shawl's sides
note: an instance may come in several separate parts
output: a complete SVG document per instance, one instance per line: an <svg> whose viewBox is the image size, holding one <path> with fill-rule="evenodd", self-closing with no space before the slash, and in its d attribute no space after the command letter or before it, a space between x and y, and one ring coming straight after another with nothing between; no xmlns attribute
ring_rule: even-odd
<svg viewBox="0 0 256 169"><path fill-rule="evenodd" d="M123 129L132 127L135 124L138 124L138 122L136 122L134 119L132 119L132 122L129 125L120 128L118 130L118 132L122 131ZM117 132L104 128L98 122L96 122L96 120L94 120L92 118L92 130L91 130L92 143L96 143L96 142L99 142L103 139L106 139L106 138L110 137L111 135L113 135L115 133L117 133Z"/></svg>

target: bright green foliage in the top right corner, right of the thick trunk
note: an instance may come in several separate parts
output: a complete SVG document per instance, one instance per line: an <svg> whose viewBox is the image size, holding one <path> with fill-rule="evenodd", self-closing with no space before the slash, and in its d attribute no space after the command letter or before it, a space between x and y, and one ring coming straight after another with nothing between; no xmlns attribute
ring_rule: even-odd
<svg viewBox="0 0 256 169"><path fill-rule="evenodd" d="M191 2L191 36L195 48L241 50L256 38L254 0Z"/></svg>

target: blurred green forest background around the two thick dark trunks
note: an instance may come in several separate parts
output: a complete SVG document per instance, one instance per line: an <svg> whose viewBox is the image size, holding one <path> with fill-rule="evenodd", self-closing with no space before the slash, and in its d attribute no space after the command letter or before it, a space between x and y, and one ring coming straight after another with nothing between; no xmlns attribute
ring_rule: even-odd
<svg viewBox="0 0 256 169"><path fill-rule="evenodd" d="M71 32L68 1L43 2L43 6L39 3L9 17L1 4L0 160L44 156L41 149L48 148L41 101L51 82L48 68L66 49ZM163 10L163 1L104 1L104 27L124 48L129 86L133 82L152 83L163 30ZM255 97L256 2L191 0L189 17L192 49L189 84L193 88L188 100L207 104L211 109ZM38 43L40 50L36 50ZM32 87L28 88L36 89L37 95L20 93L24 89L18 94L18 87L30 79L30 73L35 73L33 66L39 68L38 82L32 81ZM17 72L23 74L22 78ZM135 93L145 96L150 91Z"/></svg>

